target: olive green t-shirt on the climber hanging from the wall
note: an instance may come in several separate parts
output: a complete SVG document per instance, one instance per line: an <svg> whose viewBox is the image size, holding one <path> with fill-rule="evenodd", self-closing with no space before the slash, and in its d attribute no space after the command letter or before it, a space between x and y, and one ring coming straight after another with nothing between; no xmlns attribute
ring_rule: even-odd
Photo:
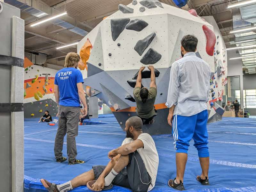
<svg viewBox="0 0 256 192"><path fill-rule="evenodd" d="M140 87L135 87L133 91L133 96L137 104L137 115L142 118L150 118L155 115L154 104L157 90L155 87L150 87L148 90L148 99L143 103L140 97L140 89Z"/></svg>

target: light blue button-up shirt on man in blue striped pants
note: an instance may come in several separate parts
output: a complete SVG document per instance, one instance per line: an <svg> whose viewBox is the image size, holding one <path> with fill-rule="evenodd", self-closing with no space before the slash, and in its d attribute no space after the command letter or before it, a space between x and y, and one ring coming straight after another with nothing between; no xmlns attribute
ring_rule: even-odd
<svg viewBox="0 0 256 192"><path fill-rule="evenodd" d="M171 67L166 106L175 105L174 115L192 116L207 109L210 93L210 66L188 52Z"/></svg>

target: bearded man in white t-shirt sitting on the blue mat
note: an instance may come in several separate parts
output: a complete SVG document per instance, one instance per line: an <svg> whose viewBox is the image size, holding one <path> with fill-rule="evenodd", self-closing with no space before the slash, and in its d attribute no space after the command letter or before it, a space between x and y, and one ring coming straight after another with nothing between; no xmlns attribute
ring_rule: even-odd
<svg viewBox="0 0 256 192"><path fill-rule="evenodd" d="M93 191L111 189L114 185L146 192L154 188L158 169L156 145L148 133L142 132L142 121L133 116L125 123L126 138L122 146L108 153L107 166L93 166L67 183L56 185L41 179L49 192L65 192L85 185Z"/></svg>

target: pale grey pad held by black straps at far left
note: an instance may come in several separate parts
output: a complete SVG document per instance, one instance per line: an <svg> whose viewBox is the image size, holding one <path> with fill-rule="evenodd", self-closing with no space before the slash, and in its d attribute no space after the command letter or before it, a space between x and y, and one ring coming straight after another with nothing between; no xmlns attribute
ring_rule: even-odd
<svg viewBox="0 0 256 192"><path fill-rule="evenodd" d="M24 20L12 17L12 57L24 59ZM24 68L12 66L11 102L23 103ZM24 112L11 112L12 192L24 191Z"/></svg>

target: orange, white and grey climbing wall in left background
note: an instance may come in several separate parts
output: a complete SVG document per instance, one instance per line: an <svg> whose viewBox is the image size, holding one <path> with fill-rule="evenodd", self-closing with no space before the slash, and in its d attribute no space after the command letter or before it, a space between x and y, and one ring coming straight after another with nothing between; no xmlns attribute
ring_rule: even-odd
<svg viewBox="0 0 256 192"><path fill-rule="evenodd" d="M54 77L57 70L28 63L29 60L24 67L24 117L41 117L45 110L56 116Z"/></svg>

